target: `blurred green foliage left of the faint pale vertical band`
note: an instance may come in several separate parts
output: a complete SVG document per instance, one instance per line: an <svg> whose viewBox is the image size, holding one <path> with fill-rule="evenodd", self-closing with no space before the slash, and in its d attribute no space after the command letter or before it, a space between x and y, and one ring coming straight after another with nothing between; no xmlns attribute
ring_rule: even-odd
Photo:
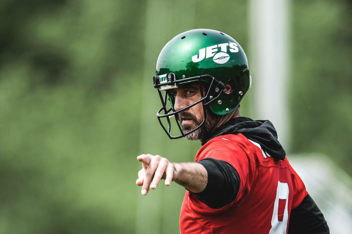
<svg viewBox="0 0 352 234"><path fill-rule="evenodd" d="M144 14L126 5L2 2L1 233L133 232Z"/></svg>

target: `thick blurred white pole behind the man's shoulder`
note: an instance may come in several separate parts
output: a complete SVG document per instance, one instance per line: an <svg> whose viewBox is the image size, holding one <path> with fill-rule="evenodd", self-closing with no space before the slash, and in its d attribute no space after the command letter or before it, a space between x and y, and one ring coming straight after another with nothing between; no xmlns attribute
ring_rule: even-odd
<svg viewBox="0 0 352 234"><path fill-rule="evenodd" d="M274 124L286 150L290 146L289 18L289 0L250 1L252 109L256 119L269 119Z"/></svg>

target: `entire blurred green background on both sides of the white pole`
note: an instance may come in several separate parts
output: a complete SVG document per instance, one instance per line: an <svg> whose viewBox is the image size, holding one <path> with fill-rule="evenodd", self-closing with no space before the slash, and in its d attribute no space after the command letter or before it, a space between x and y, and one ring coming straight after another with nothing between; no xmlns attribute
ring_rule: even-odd
<svg viewBox="0 0 352 234"><path fill-rule="evenodd" d="M327 154L350 176L351 12L347 0L290 2L289 153ZM150 215L179 233L185 190L142 197L135 185L137 155L193 161L200 147L158 124L157 56L195 28L249 51L248 27L239 0L2 0L0 233L143 233Z"/></svg>

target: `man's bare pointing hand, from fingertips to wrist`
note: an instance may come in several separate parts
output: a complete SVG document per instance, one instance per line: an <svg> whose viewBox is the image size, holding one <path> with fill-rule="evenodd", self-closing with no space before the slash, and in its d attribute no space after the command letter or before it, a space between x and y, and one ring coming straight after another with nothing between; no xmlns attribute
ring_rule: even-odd
<svg viewBox="0 0 352 234"><path fill-rule="evenodd" d="M147 195L149 188L155 189L161 179L165 179L165 185L177 178L175 165L159 155L142 154L137 157L142 162L142 169L138 172L136 184L142 186L142 194Z"/></svg>

